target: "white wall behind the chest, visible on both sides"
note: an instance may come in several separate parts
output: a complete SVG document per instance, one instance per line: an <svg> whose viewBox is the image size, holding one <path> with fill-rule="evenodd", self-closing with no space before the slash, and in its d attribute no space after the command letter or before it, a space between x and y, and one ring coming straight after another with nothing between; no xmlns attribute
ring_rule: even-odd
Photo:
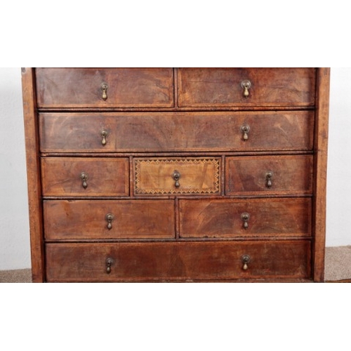
<svg viewBox="0 0 351 351"><path fill-rule="evenodd" d="M351 245L351 68L331 69L326 246ZM30 267L20 68L0 68L0 270Z"/></svg>

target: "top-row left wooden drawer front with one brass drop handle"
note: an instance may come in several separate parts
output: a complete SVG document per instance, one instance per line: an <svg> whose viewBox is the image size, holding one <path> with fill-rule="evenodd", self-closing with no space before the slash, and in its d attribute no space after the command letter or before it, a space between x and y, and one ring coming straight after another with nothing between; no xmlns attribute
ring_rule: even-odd
<svg viewBox="0 0 351 351"><path fill-rule="evenodd" d="M38 107L173 107L171 68L37 68Z"/></svg>

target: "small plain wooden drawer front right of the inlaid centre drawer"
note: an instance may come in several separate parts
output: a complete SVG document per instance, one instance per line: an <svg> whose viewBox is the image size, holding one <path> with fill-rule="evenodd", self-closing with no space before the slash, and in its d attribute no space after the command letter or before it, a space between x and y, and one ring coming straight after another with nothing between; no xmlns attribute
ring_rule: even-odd
<svg viewBox="0 0 351 351"><path fill-rule="evenodd" d="M227 157L225 194L312 194L312 155Z"/></svg>

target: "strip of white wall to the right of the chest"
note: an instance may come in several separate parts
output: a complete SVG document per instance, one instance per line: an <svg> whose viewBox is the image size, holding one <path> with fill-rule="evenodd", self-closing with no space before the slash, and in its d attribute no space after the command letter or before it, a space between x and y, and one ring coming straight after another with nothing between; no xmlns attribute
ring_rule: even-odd
<svg viewBox="0 0 351 351"><path fill-rule="evenodd" d="M351 68L331 68L326 246L351 245Z"/></svg>

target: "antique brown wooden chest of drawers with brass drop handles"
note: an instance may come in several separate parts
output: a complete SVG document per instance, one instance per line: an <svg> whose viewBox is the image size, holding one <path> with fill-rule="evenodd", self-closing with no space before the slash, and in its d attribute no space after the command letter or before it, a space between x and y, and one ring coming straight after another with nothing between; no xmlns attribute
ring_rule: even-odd
<svg viewBox="0 0 351 351"><path fill-rule="evenodd" d="M33 282L323 282L329 68L23 68Z"/></svg>

